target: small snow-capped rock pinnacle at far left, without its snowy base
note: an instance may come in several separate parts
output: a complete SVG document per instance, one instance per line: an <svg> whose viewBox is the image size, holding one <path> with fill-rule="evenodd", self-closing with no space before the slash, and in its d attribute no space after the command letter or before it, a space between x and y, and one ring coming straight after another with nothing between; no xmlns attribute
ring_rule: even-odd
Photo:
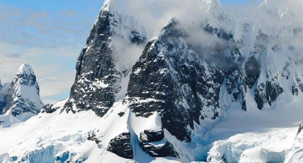
<svg viewBox="0 0 303 163"><path fill-rule="evenodd" d="M36 114L44 106L39 95L39 84L36 75L27 63L20 66L11 82L7 94L4 112L11 110L13 116L23 113Z"/></svg>

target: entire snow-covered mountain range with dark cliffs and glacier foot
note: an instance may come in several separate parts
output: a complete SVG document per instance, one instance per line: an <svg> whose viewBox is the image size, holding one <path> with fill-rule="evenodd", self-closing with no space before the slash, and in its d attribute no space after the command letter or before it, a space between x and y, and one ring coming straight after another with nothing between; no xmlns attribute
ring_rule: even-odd
<svg viewBox="0 0 303 163"><path fill-rule="evenodd" d="M300 162L298 8L266 0L254 8L262 16L239 19L219 0L200 5L203 17L172 18L147 41L139 21L106 0L70 97L0 127L0 140L14 135L1 142L0 162ZM41 106L36 78L24 67L19 78L32 79L26 85ZM14 107L19 78L5 111L35 114Z"/></svg>

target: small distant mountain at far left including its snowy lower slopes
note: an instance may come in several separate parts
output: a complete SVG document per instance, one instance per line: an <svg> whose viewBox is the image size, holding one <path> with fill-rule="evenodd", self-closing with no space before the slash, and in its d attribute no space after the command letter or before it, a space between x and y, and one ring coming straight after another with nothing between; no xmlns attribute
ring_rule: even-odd
<svg viewBox="0 0 303 163"><path fill-rule="evenodd" d="M3 115L0 116L1 126L26 121L44 106L39 96L39 84L36 81L35 73L27 63L19 67L8 90L3 91L6 92L6 104Z"/></svg>

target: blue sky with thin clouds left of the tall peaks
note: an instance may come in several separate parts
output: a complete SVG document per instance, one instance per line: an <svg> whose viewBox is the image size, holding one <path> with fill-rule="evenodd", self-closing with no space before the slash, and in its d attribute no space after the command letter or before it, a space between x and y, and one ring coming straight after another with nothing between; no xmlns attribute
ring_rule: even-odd
<svg viewBox="0 0 303 163"><path fill-rule="evenodd" d="M221 0L227 6L251 1ZM2 81L11 81L19 65L28 62L39 80L45 103L66 98L75 78L77 57L102 3L103 0L0 0Z"/></svg>

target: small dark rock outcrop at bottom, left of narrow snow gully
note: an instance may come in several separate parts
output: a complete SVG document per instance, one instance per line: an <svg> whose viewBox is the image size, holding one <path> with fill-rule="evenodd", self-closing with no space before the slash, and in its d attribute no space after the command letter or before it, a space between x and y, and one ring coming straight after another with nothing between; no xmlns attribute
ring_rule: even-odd
<svg viewBox="0 0 303 163"><path fill-rule="evenodd" d="M134 156L130 132L124 132L110 140L107 150L120 157L132 159Z"/></svg>

